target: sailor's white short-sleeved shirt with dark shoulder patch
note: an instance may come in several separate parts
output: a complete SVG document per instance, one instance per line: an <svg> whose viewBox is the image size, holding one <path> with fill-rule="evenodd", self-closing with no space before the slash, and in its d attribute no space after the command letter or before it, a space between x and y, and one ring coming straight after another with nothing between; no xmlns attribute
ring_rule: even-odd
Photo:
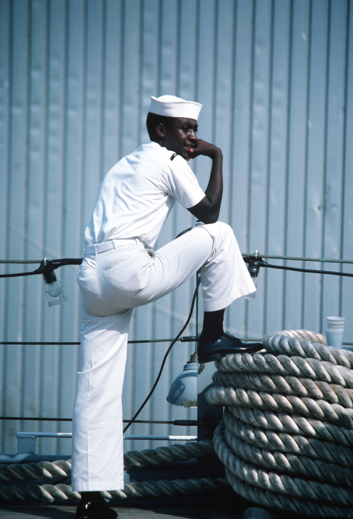
<svg viewBox="0 0 353 519"><path fill-rule="evenodd" d="M104 177L84 244L137 237L153 247L175 200L188 209L204 196L185 159L143 144Z"/></svg>

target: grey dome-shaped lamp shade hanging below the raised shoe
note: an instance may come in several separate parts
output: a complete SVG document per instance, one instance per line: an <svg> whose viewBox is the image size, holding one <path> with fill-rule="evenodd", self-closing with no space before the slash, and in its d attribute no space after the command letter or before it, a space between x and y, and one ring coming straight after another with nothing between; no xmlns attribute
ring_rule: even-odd
<svg viewBox="0 0 353 519"><path fill-rule="evenodd" d="M167 396L170 404L197 407L197 354L193 353L182 372L174 380Z"/></svg>

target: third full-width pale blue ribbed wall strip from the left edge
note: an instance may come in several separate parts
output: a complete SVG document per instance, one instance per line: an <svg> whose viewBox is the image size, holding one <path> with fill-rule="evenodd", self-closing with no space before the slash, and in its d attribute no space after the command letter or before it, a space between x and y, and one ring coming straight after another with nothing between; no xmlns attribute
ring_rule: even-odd
<svg viewBox="0 0 353 519"><path fill-rule="evenodd" d="M43 245L48 251L48 257L63 257L63 219L64 219L64 150L65 150L65 121L66 121L66 3L64 2L40 2L38 10L46 11L46 48L47 56L45 66L46 73L46 124L41 126L41 132L46 139L46 163L44 183L44 231ZM34 7L34 3L32 4ZM35 16L33 16L34 19ZM35 28L32 26L31 34ZM32 36L33 37L33 36ZM43 247L42 245L42 247ZM36 257L43 255L40 250ZM53 256L54 255L54 256ZM45 254L47 256L47 253ZM58 272L58 278L62 281L63 273ZM41 280L43 281L43 280ZM42 288L43 290L43 288ZM40 330L45 337L42 340L60 340L62 330L62 308L55 307L54 312L47 307L43 299L43 312L46 315L42 321ZM49 311L48 311L49 310ZM42 316L42 319L44 317ZM50 416L55 413L59 416L58 399L60 395L61 380L59 378L59 366L61 349L55 346L41 348L40 363L40 400L39 416ZM26 426L27 424L25 424ZM33 425L33 424L32 424ZM55 422L43 422L40 429L43 431L57 430ZM41 440L39 448L54 448L55 440Z"/></svg>

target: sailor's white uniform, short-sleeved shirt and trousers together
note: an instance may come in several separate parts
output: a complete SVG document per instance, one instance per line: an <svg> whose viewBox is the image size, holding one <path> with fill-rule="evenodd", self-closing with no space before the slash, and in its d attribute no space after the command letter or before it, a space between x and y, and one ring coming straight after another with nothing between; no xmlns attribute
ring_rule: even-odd
<svg viewBox="0 0 353 519"><path fill-rule="evenodd" d="M121 392L132 309L173 291L201 267L205 311L255 291L227 224L195 227L152 250L174 201L190 208L204 196L187 161L154 142L120 160L100 186L77 278L82 323L74 490L124 486Z"/></svg>

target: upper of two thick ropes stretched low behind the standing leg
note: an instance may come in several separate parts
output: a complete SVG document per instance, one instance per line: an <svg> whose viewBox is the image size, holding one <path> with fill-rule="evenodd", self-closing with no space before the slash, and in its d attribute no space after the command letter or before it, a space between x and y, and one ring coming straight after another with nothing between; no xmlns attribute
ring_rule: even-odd
<svg viewBox="0 0 353 519"><path fill-rule="evenodd" d="M141 451L131 450L124 455L124 469L156 466L160 463L186 461L214 454L211 440L187 442L183 445L157 447ZM38 463L12 463L0 465L0 481L27 481L39 479L55 479L71 476L71 460L40 461Z"/></svg>

